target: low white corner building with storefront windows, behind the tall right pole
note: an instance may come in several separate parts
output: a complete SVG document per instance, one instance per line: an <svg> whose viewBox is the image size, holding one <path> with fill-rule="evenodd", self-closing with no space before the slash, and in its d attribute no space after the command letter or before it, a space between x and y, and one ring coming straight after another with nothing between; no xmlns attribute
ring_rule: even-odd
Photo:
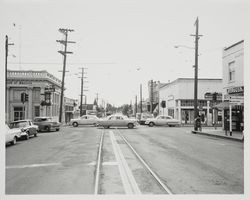
<svg viewBox="0 0 250 200"><path fill-rule="evenodd" d="M221 102L206 98L207 93L222 93L222 79L198 79L198 109L203 123L212 125L220 122L221 112L215 114L212 107ZM169 115L183 124L194 121L194 79L178 78L173 82L162 85L159 89L159 114ZM162 102L165 103L163 108Z"/></svg>

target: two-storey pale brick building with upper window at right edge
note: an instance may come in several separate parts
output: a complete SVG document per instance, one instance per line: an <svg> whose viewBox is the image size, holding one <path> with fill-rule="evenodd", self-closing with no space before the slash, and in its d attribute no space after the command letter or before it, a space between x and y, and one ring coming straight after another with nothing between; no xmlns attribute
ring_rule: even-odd
<svg viewBox="0 0 250 200"><path fill-rule="evenodd" d="M244 40L223 49L223 119L231 131L244 129ZM226 123L225 120L223 120ZM224 125L224 124L223 124Z"/></svg>

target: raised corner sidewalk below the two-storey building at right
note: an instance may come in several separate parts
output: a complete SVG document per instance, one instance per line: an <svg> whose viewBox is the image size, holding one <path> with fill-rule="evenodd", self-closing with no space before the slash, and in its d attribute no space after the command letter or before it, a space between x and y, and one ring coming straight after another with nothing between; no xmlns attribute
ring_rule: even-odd
<svg viewBox="0 0 250 200"><path fill-rule="evenodd" d="M230 139L230 140L239 141L239 142L244 141L243 132L233 131L232 136L230 136L229 131L227 131L227 135L226 135L225 131L221 127L217 127L217 129L214 129L212 127L202 127L202 131L192 131L192 133L218 137L218 138L224 138L224 139Z"/></svg>

